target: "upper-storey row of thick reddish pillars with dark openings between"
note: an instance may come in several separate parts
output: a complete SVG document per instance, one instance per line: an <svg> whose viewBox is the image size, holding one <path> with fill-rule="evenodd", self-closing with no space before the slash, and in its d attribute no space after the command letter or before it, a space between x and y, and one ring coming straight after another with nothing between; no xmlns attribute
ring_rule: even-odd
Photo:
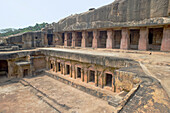
<svg viewBox="0 0 170 113"><path fill-rule="evenodd" d="M156 30L152 33L151 29L156 29L160 31L160 33L156 34ZM136 49L146 51L156 49L170 51L169 26L161 28L142 27L134 29L122 28L120 30L108 29L103 31L104 35L102 36L102 30L64 32L64 46L86 48L88 47L88 43L91 43L90 45L92 48L114 49L117 47L116 43L118 43L119 49L124 50ZM119 34L117 31L120 31L120 36L118 36ZM92 32L92 37L89 37L89 32ZM89 41L90 38L92 38L92 41Z"/></svg>

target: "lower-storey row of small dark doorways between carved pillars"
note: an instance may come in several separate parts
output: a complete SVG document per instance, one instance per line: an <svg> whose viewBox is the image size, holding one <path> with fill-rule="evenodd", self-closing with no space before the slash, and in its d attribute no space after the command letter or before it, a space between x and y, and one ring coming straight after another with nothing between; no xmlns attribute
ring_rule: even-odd
<svg viewBox="0 0 170 113"><path fill-rule="evenodd" d="M95 66L63 59L48 59L47 68L63 76L90 83L100 88L116 91L114 83L114 69L104 66Z"/></svg>

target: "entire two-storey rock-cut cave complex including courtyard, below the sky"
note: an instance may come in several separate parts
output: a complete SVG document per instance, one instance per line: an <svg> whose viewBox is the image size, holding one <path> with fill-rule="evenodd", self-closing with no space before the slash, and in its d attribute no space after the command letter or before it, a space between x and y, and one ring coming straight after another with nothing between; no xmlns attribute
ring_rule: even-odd
<svg viewBox="0 0 170 113"><path fill-rule="evenodd" d="M0 113L170 113L170 0L115 0L0 47Z"/></svg>

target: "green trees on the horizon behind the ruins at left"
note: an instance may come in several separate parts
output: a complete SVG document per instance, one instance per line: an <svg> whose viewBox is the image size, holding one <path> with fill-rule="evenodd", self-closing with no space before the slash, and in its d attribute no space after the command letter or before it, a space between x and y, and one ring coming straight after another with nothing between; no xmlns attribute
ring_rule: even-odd
<svg viewBox="0 0 170 113"><path fill-rule="evenodd" d="M38 30L41 30L42 28L44 28L45 25L47 25L47 24L48 23L44 22L42 24L36 24L35 26L29 26L29 27L22 28L22 29L12 29L12 28L3 29L3 30L1 30L0 37L15 35L18 33L30 32L30 31L38 31Z"/></svg>

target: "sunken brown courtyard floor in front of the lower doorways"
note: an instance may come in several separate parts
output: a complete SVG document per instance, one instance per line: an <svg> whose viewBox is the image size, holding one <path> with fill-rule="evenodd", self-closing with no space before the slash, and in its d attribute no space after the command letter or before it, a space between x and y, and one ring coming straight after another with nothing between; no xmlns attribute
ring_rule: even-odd
<svg viewBox="0 0 170 113"><path fill-rule="evenodd" d="M0 113L112 113L104 100L46 75L0 84Z"/></svg>

